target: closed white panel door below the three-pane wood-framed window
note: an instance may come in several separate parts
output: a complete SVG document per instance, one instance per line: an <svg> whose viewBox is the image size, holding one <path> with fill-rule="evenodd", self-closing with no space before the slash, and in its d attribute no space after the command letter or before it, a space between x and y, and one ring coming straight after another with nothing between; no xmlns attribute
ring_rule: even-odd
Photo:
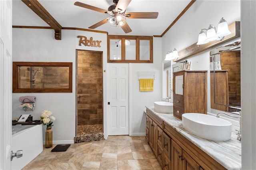
<svg viewBox="0 0 256 170"><path fill-rule="evenodd" d="M129 134L128 68L128 63L108 63L108 135Z"/></svg>

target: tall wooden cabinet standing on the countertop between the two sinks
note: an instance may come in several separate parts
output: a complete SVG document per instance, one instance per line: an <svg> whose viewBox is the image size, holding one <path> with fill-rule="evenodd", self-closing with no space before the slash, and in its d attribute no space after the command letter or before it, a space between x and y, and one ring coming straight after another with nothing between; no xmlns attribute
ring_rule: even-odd
<svg viewBox="0 0 256 170"><path fill-rule="evenodd" d="M182 70L173 73L173 115L207 113L207 71Z"/></svg>

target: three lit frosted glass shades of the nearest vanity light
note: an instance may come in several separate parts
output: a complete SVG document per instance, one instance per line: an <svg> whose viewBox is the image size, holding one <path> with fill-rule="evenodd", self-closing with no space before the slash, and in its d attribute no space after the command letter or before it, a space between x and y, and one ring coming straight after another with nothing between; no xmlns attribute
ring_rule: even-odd
<svg viewBox="0 0 256 170"><path fill-rule="evenodd" d="M202 29L199 33L198 42L196 43L197 45L202 45L214 40L222 41L224 39L224 36L231 34L231 32L228 30L227 21L224 20L223 17L220 19L220 22L218 24L217 33L215 26L212 24L210 24L210 26L206 30L206 33L204 32L204 30L206 29Z"/></svg>

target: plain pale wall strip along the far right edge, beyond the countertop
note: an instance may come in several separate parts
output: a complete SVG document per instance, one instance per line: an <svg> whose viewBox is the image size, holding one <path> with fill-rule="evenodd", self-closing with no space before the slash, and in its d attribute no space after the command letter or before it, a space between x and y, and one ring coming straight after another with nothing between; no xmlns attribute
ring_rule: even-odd
<svg viewBox="0 0 256 170"><path fill-rule="evenodd" d="M249 10L250 9L250 10ZM256 1L241 1L242 169L256 169Z"/></svg>

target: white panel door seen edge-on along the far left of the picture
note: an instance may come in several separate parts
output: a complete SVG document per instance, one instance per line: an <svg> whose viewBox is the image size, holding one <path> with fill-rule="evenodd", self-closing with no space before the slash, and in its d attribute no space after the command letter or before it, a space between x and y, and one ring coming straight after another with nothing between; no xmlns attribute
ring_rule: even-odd
<svg viewBox="0 0 256 170"><path fill-rule="evenodd" d="M11 120L12 1L0 0L0 169L11 169Z"/></svg>

